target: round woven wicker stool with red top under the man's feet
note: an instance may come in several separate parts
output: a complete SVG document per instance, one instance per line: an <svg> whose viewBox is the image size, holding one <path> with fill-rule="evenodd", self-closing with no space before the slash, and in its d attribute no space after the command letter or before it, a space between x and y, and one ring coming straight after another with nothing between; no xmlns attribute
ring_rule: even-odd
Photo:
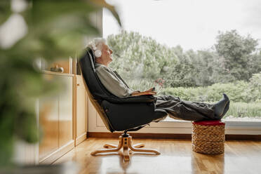
<svg viewBox="0 0 261 174"><path fill-rule="evenodd" d="M222 154L225 145L225 123L196 121L192 123L192 150L202 154Z"/></svg>

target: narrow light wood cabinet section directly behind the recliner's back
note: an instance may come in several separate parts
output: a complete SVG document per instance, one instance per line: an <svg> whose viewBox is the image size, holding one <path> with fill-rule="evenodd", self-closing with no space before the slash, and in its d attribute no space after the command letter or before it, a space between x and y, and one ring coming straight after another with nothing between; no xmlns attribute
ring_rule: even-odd
<svg viewBox="0 0 261 174"><path fill-rule="evenodd" d="M79 145L87 136L88 95L82 76L74 78L74 142Z"/></svg>

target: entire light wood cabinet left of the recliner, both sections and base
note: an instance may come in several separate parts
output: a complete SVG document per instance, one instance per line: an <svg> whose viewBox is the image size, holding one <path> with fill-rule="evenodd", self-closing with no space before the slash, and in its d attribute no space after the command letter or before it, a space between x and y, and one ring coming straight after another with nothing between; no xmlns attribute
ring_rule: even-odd
<svg viewBox="0 0 261 174"><path fill-rule="evenodd" d="M82 76L45 72L46 79L59 81L64 88L39 99L39 163L53 163L87 136L88 95Z"/></svg>

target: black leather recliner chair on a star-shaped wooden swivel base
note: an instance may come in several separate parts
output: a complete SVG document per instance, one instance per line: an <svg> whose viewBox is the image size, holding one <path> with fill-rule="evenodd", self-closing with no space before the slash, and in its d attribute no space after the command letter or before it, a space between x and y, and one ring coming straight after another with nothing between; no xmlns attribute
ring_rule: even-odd
<svg viewBox="0 0 261 174"><path fill-rule="evenodd" d="M144 145L132 145L131 136L127 131L138 131L152 121L159 121L167 116L162 109L155 108L156 98L153 95L131 96L118 98L102 85L95 73L94 55L91 48L86 49L85 55L79 60L81 74L85 82L88 96L100 115L103 123L111 132L123 131L119 137L119 145L105 145L109 149L92 152L95 155L103 152L117 152L123 147L125 161L129 161L130 148L134 152L153 152L160 154L155 149L138 149Z"/></svg>

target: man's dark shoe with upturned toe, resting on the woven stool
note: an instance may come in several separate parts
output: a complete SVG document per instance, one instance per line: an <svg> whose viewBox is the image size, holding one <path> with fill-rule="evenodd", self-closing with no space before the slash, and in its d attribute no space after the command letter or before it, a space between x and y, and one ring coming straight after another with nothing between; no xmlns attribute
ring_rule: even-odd
<svg viewBox="0 0 261 174"><path fill-rule="evenodd" d="M222 118L222 116L225 115L227 110L229 109L229 98L225 93L223 93L223 98L219 102L217 102L215 105L215 117L216 118Z"/></svg>

